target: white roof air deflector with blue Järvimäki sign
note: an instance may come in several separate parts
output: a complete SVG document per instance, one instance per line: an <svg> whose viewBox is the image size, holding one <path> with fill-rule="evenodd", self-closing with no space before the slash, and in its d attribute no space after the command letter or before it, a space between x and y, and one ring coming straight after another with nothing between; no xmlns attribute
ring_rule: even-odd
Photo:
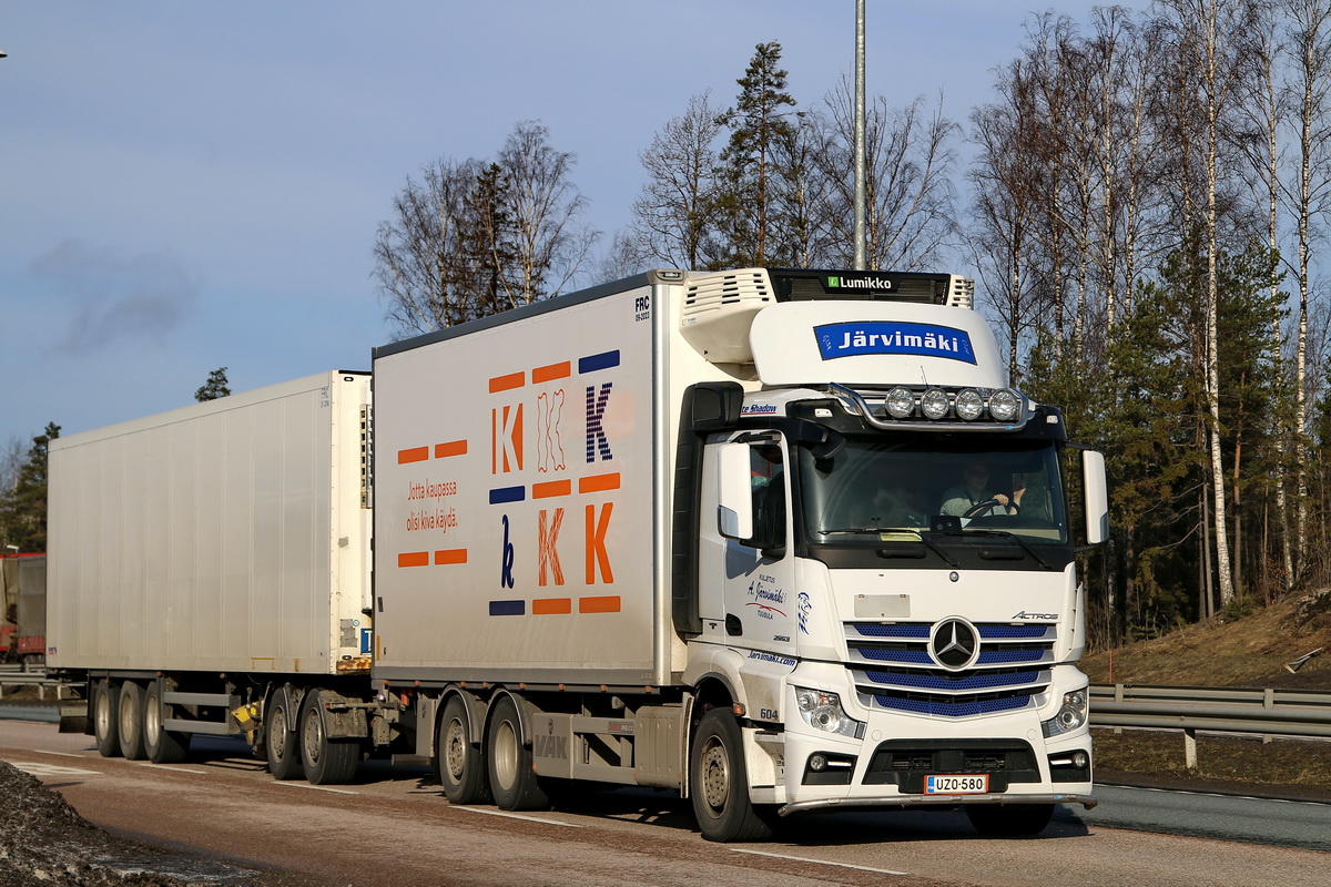
<svg viewBox="0 0 1331 887"><path fill-rule="evenodd" d="M1008 384L993 332L974 311L902 302L784 302L749 330L763 384Z"/></svg>

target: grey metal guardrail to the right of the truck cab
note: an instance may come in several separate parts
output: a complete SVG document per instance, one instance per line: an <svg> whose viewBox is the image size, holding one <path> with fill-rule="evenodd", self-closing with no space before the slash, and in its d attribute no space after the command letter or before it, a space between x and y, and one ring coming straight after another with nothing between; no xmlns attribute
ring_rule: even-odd
<svg viewBox="0 0 1331 887"><path fill-rule="evenodd" d="M1197 767L1197 733L1331 738L1331 693L1236 688L1093 684L1093 727L1181 730L1189 769Z"/></svg>

